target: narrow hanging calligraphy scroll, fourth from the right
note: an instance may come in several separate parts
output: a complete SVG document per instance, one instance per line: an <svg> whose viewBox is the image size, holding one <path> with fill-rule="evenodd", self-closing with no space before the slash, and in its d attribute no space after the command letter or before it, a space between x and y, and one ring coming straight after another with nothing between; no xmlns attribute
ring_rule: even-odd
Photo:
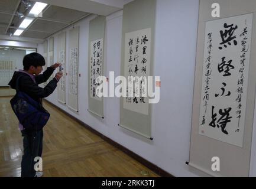
<svg viewBox="0 0 256 189"><path fill-rule="evenodd" d="M78 112L79 27L69 31L68 107Z"/></svg>

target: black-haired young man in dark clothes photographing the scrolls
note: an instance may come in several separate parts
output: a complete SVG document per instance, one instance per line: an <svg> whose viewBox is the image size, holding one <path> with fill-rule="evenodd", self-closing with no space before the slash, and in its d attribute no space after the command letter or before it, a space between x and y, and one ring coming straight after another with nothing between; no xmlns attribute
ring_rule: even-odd
<svg viewBox="0 0 256 189"><path fill-rule="evenodd" d="M23 58L24 70L15 71L9 82L12 89L16 89L17 79L18 89L21 92L28 94L32 99L42 105L42 99L49 96L57 87L57 83L62 77L63 73L59 71L56 73L53 80L51 80L44 88L39 87L38 84L44 83L53 74L53 71L61 66L60 63L55 63L47 67L43 74L43 66L46 65L44 57L38 53L27 54ZM21 161L21 177L41 177L43 172L36 172L34 170L35 157L41 157L43 151L43 129L35 131L33 129L25 129L19 123L20 130L23 136L24 154Z"/></svg>

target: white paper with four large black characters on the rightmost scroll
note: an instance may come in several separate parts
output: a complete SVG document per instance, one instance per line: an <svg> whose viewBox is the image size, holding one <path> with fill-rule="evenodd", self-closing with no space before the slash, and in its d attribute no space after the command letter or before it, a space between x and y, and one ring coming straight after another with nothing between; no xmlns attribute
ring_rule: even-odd
<svg viewBox="0 0 256 189"><path fill-rule="evenodd" d="M243 146L252 14L206 22L199 135Z"/></svg>

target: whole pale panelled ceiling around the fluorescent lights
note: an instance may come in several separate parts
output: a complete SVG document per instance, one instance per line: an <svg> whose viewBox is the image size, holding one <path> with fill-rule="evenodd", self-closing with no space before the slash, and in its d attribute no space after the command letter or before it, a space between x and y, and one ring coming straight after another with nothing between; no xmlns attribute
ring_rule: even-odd
<svg viewBox="0 0 256 189"><path fill-rule="evenodd" d="M34 4L35 0L30 0ZM133 0L37 0L48 4L42 18L34 22L23 32L21 37L9 37L20 25L17 11L27 15L21 0L0 0L0 40L33 41L43 40L61 28L90 14L109 15L123 8L124 4Z"/></svg>

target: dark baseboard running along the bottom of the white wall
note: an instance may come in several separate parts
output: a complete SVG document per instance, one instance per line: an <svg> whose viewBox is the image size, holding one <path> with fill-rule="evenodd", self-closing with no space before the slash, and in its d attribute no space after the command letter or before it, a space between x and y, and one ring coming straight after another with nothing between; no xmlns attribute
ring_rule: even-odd
<svg viewBox="0 0 256 189"><path fill-rule="evenodd" d="M88 129L89 131L95 133L96 135L98 135L99 137L101 137L104 141L108 142L109 144L115 146L116 148L120 149L122 152L124 152L125 154L129 155L130 157L134 158L135 160L137 160L138 162L140 162L142 165L144 165L145 167L149 168L150 170L154 171L156 174L160 175L161 177L174 177L173 175L169 174L168 172L162 170L160 167L157 167L157 165L154 165L153 163L151 163L150 161L147 161L146 159L140 157L140 155L135 154L134 152L130 151L129 149L125 148L124 146L118 144L115 141L112 141L112 139L108 138L107 136L103 135L102 133L96 131L95 129L93 129L92 127L90 127L89 125L87 125L86 123L82 122L81 120L75 118L74 116L70 115L68 112L66 112L65 110L61 109L60 107L54 105L53 103L51 103L50 101L44 99L44 101L46 103L49 103L50 105L56 107L58 110L60 110L63 113L66 113L70 118L76 120L77 122L79 122L81 125L85 126L86 129Z"/></svg>

